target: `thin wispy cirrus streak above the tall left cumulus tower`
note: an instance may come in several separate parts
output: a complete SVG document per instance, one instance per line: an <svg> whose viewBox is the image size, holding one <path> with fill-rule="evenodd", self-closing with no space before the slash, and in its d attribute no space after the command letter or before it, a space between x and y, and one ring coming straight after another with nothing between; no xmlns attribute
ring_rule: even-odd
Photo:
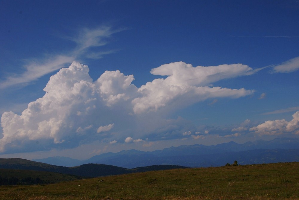
<svg viewBox="0 0 299 200"><path fill-rule="evenodd" d="M123 29L122 29L123 30ZM40 77L56 71L62 67L68 66L74 60L80 58L100 59L105 54L114 53L111 51L94 52L92 47L100 47L108 43L108 38L121 30L112 30L108 26L88 29L83 28L75 37L65 37L76 42L77 46L74 49L69 49L64 54L50 54L43 58L24 59L25 69L22 74L12 74L4 77L0 81L0 88L8 88L15 85L28 85L30 82L39 79Z"/></svg>

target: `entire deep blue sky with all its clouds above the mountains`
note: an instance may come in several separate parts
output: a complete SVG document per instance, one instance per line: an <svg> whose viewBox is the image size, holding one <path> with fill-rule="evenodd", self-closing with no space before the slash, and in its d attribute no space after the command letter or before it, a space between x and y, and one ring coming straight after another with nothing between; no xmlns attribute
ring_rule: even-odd
<svg viewBox="0 0 299 200"><path fill-rule="evenodd" d="M0 152L299 136L298 1L0 1Z"/></svg>

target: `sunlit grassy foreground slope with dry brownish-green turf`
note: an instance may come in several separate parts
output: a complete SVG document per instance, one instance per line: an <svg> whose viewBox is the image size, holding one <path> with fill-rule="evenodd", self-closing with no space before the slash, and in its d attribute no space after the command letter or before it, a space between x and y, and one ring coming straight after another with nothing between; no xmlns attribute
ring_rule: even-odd
<svg viewBox="0 0 299 200"><path fill-rule="evenodd" d="M0 186L0 199L299 199L299 163L173 169L48 185Z"/></svg>

